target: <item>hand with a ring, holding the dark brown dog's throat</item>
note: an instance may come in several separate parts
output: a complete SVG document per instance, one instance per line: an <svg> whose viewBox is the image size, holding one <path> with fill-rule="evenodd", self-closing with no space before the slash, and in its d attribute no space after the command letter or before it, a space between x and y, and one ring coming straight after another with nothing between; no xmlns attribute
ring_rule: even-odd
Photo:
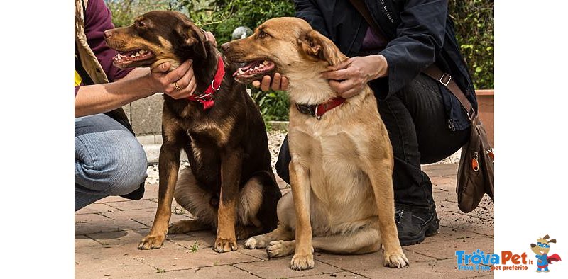
<svg viewBox="0 0 568 279"><path fill-rule="evenodd" d="M163 92L175 99L192 96L197 87L192 64L192 60L187 60L172 72L168 72L171 67L170 62L158 65L150 74L151 88L155 92Z"/></svg>

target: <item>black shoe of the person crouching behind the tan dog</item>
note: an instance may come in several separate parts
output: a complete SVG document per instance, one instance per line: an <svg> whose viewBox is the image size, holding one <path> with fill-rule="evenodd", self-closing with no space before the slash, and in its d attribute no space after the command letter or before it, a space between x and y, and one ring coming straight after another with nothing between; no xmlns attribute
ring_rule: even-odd
<svg viewBox="0 0 568 279"><path fill-rule="evenodd" d="M408 205L395 205L395 222L400 246L418 244L438 231L436 210L413 209Z"/></svg>

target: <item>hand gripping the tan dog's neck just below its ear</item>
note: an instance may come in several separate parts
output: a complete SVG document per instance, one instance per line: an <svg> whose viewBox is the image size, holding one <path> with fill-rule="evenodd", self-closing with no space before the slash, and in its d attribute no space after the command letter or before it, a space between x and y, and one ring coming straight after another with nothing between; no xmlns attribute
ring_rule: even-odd
<svg viewBox="0 0 568 279"><path fill-rule="evenodd" d="M329 79L329 87L343 98L361 93L368 81L388 74L388 64L383 55L358 56L346 59L336 66L329 66L322 77Z"/></svg>

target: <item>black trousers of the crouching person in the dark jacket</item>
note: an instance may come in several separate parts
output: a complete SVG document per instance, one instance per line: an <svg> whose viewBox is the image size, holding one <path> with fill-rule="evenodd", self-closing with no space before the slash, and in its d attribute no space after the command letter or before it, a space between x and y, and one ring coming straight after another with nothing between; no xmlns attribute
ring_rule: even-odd
<svg viewBox="0 0 568 279"><path fill-rule="evenodd" d="M425 74L377 103L393 144L395 203L433 210L432 182L420 164L434 163L456 152L469 139L470 129L449 129L437 81ZM278 176L288 183L289 163L286 137L275 168Z"/></svg>

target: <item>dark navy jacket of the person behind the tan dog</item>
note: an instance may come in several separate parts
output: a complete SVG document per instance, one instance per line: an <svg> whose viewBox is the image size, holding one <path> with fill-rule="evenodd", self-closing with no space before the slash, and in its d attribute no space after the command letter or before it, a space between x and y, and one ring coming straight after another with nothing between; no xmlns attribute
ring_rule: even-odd
<svg viewBox="0 0 568 279"><path fill-rule="evenodd" d="M474 85L459 52L447 0L365 0L389 40L384 50L388 76L369 82L379 101L403 89L435 63L466 94L477 111ZM349 57L358 55L368 23L349 0L295 0L296 16L327 36ZM440 84L449 128L464 130L469 119L459 101Z"/></svg>

